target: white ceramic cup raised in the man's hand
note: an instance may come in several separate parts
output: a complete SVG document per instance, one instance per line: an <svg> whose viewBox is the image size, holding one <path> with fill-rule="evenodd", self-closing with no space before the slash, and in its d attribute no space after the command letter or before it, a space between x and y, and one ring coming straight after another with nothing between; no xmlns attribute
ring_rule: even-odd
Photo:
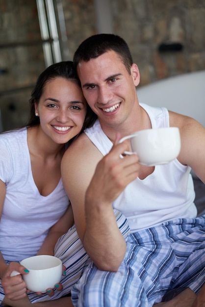
<svg viewBox="0 0 205 307"><path fill-rule="evenodd" d="M139 162L154 166L174 160L180 152L181 142L179 128L157 128L136 131L120 139L119 143L130 139L131 149L139 156Z"/></svg>

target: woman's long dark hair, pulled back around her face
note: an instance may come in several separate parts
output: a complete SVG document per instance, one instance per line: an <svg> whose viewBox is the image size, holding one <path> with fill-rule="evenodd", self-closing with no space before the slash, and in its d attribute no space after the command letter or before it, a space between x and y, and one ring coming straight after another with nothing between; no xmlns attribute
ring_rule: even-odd
<svg viewBox="0 0 205 307"><path fill-rule="evenodd" d="M35 116L35 102L38 104L43 94L46 84L57 77L62 77L67 80L75 80L81 88L80 81L77 77L76 70L72 61L62 61L59 63L52 64L43 71L37 78L36 85L31 93L30 102L30 114L26 126L32 127L40 124L39 116ZM97 115L91 110L87 104L87 112L82 130L91 127Z"/></svg>

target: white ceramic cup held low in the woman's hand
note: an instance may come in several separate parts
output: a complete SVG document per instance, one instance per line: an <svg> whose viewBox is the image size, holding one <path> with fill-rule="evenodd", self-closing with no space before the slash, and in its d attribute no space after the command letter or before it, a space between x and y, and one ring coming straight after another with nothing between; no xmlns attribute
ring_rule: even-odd
<svg viewBox="0 0 205 307"><path fill-rule="evenodd" d="M20 263L29 270L28 274L22 276L27 289L33 292L46 292L46 289L54 288L61 280L62 262L54 256L33 256Z"/></svg>

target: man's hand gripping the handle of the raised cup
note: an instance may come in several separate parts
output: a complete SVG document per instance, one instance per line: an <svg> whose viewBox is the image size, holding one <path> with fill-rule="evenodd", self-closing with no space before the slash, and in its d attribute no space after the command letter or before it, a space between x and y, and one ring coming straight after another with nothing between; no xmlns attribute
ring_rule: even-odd
<svg viewBox="0 0 205 307"><path fill-rule="evenodd" d="M87 189L86 200L98 200L103 205L112 203L126 188L128 183L137 178L140 164L136 154L123 157L128 150L127 144L115 144L108 154L98 163L95 174ZM90 199L91 198L91 199Z"/></svg>

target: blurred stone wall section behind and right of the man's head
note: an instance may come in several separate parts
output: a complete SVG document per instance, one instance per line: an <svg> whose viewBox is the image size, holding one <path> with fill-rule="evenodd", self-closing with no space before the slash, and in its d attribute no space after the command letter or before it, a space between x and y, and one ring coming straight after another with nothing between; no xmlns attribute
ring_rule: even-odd
<svg viewBox="0 0 205 307"><path fill-rule="evenodd" d="M141 85L205 69L205 0L112 0L114 31L124 37ZM159 52L161 44L172 51ZM174 47L181 44L181 51Z"/></svg>

